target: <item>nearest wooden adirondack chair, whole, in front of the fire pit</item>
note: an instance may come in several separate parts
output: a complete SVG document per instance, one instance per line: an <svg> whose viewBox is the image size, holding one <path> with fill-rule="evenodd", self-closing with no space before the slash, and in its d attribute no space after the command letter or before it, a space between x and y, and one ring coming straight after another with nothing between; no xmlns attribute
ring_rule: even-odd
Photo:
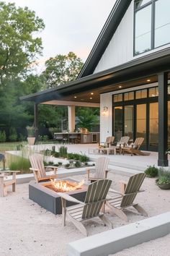
<svg viewBox="0 0 170 256"><path fill-rule="evenodd" d="M104 213L100 212L102 205L106 201L111 183L112 181L109 179L101 179L89 184L84 202L66 193L58 193L62 200L63 226L66 226L67 216L85 236L87 236L87 231L82 222L91 218L99 217L104 222L104 225L112 227L112 223L104 216ZM66 200L76 202L78 205L66 207Z"/></svg>

